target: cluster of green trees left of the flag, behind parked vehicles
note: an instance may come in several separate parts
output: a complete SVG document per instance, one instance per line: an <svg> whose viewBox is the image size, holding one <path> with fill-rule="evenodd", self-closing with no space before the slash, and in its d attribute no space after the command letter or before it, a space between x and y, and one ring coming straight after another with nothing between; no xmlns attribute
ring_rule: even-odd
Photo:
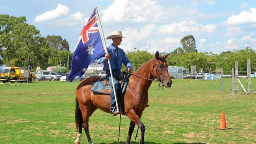
<svg viewBox="0 0 256 144"><path fill-rule="evenodd" d="M72 59L69 43L61 36L42 37L26 17L0 15L0 65L26 66L28 63L46 69L48 66L67 66Z"/></svg>

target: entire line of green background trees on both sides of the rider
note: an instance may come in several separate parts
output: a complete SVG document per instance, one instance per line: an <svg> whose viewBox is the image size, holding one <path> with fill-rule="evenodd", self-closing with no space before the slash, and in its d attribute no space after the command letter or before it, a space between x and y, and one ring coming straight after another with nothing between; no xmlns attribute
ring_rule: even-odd
<svg viewBox="0 0 256 144"><path fill-rule="evenodd" d="M176 48L167 58L169 66L196 66L204 71L215 71L216 67L230 71L235 61L239 61L239 71L247 70L247 59L251 61L251 69L256 71L256 52L246 47L243 50L233 50L213 54L212 52L198 52L193 35L187 35L180 41L182 48ZM136 50L136 48L135 48ZM13 17L0 15L0 65L26 66L30 63L33 70L37 66L46 69L48 66L67 66L69 55L70 63L72 54L69 43L58 35L43 37L35 26L26 23L26 17ZM161 52L161 55L167 54ZM127 57L136 70L149 59L153 53L137 50L126 52ZM125 70L125 68L122 68Z"/></svg>

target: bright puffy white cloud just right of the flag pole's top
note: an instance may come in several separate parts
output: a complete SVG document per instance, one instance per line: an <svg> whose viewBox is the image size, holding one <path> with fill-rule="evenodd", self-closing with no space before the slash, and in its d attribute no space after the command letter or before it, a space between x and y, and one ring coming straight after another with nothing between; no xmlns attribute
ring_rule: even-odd
<svg viewBox="0 0 256 144"><path fill-rule="evenodd" d="M102 22L113 24L116 22L145 22L149 18L154 20L160 15L161 8L153 0L115 0L107 9L100 11Z"/></svg>

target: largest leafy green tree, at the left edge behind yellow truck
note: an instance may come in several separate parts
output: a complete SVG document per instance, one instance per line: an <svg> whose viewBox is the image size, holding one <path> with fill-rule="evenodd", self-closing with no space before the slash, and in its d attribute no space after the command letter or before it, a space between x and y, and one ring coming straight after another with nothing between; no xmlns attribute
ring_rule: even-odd
<svg viewBox="0 0 256 144"><path fill-rule="evenodd" d="M0 15L0 54L7 65L41 66L46 68L50 55L49 44L26 17Z"/></svg>

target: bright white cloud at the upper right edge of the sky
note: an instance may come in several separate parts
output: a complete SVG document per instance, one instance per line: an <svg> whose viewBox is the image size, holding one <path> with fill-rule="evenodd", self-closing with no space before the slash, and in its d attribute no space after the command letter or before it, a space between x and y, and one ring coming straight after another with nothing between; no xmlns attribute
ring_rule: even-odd
<svg viewBox="0 0 256 144"><path fill-rule="evenodd" d="M243 10L239 15L232 15L226 22L228 25L238 24L255 24L256 23L256 7L250 8L250 11Z"/></svg>

